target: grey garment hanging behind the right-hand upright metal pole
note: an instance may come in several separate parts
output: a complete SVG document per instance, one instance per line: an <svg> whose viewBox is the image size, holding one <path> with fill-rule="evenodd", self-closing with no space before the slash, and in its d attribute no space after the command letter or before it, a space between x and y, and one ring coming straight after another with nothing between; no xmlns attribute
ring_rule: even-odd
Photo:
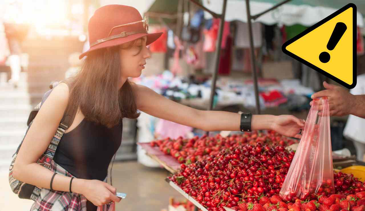
<svg viewBox="0 0 365 211"><path fill-rule="evenodd" d="M250 47L250 35L247 23L236 21L235 46L237 48ZM261 23L252 23L253 46L255 48L262 46Z"/></svg>

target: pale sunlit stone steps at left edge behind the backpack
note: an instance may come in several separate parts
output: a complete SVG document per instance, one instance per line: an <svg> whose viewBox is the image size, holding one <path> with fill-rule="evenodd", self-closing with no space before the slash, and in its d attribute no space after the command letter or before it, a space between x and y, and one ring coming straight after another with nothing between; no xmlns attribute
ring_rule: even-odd
<svg viewBox="0 0 365 211"><path fill-rule="evenodd" d="M0 73L0 171L9 168L11 157L27 130L32 110L27 73L20 73L18 88L7 84L6 80L6 73Z"/></svg>

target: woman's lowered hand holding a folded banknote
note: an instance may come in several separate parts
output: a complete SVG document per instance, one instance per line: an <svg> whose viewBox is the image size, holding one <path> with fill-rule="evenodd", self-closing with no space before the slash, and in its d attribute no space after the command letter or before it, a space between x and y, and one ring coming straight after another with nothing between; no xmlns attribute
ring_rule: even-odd
<svg viewBox="0 0 365 211"><path fill-rule="evenodd" d="M111 201L120 202L121 200L115 196L116 188L100 180L85 180L81 194L95 206L102 206Z"/></svg>

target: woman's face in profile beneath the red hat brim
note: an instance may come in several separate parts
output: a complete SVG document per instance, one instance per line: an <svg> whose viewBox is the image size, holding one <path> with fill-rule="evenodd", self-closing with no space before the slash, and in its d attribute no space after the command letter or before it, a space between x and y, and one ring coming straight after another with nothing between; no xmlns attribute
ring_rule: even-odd
<svg viewBox="0 0 365 211"><path fill-rule="evenodd" d="M151 57L151 52L146 47L146 41L147 37L142 37L132 47L130 47L130 42L122 44L120 49L120 71L123 83L128 77L137 78L141 76L142 70L145 69L146 59Z"/></svg>

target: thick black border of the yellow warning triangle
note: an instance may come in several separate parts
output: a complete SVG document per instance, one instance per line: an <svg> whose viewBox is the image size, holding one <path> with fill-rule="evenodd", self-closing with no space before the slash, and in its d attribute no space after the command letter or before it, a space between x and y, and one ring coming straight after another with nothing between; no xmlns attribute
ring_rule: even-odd
<svg viewBox="0 0 365 211"><path fill-rule="evenodd" d="M328 20L333 19L335 16L341 14L342 12L346 11L349 8L353 8L353 70L352 70L352 76L353 76L353 83L347 84L344 81L334 77L333 75L327 73L326 71L318 68L315 65L312 65L311 63L307 62L306 60L303 60L302 58L300 58L299 56L289 52L288 50L286 50L286 47L288 45L290 45L291 43L297 41L299 38L303 37L304 35L308 34L309 32L315 30L316 28L318 28L319 26L321 26L322 24L326 23ZM336 12L334 12L333 14L329 15L328 17L324 18L323 20L321 20L320 22L314 24L313 26L307 28L306 30L304 30L303 32L301 32L300 34L296 35L295 37L293 37L292 39L289 39L287 42L285 42L283 44L283 46L281 47L281 50L283 50L283 52L287 55L289 55L290 57L294 58L295 60L300 61L301 63L309 66L310 68L316 70L317 72L323 74L324 76L331 78L332 80L336 81L337 83L341 84L342 86L348 88L348 89L352 89L356 86L356 73L357 73L357 45L356 45L356 28L357 28L357 7L355 4L353 3L349 3L347 5L345 5L344 7L342 7L341 9L337 10ZM329 38L328 38L329 39Z"/></svg>

